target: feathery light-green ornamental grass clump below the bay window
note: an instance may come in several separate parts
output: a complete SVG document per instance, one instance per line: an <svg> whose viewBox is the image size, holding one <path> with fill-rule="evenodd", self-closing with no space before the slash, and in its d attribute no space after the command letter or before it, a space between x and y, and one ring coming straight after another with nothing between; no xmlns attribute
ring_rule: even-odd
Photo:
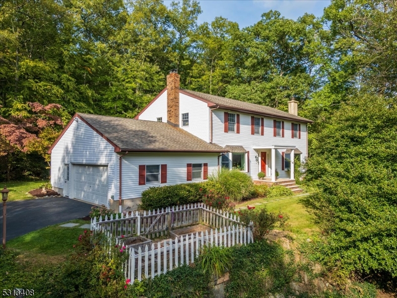
<svg viewBox="0 0 397 298"><path fill-rule="evenodd" d="M218 183L223 190L223 194L233 202L250 198L254 188L251 177L237 169L222 169L218 175L209 176L208 181Z"/></svg>

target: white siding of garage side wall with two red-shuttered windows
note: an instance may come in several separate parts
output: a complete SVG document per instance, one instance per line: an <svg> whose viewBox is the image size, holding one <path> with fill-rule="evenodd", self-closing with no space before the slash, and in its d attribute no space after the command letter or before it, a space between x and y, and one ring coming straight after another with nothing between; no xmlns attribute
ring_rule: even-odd
<svg viewBox="0 0 397 298"><path fill-rule="evenodd" d="M122 159L123 199L140 198L142 191L145 189L151 186L160 186L160 184L139 185L138 174L139 165L141 164L167 164L167 183L162 183L161 186L194 183L202 181L202 179L186 181L186 165L188 163L208 163L208 175L216 174L218 169L218 155L219 153L129 153Z"/></svg>

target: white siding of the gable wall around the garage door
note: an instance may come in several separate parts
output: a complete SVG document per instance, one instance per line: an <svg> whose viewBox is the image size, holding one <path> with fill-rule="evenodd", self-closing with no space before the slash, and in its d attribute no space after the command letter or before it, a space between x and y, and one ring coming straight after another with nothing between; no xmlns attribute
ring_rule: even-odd
<svg viewBox="0 0 397 298"><path fill-rule="evenodd" d="M69 165L69 197L75 197L74 174L80 164L108 166L108 199L115 193L114 147L80 119L70 124L52 149L51 184L54 187L64 189L65 164Z"/></svg>

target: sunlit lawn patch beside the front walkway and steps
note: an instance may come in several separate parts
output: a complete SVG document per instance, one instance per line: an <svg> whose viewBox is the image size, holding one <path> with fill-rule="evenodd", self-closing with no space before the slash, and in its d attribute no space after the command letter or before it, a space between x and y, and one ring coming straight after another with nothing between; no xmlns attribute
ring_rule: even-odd
<svg viewBox="0 0 397 298"><path fill-rule="evenodd" d="M270 200L280 201L269 202ZM262 205L254 205L255 203L260 203ZM308 207L309 204L307 197L291 196L271 199L260 198L246 201L237 205L236 208L247 207L247 205L255 206L256 210L266 207L269 212L282 212L287 214L289 216L287 229L294 234L311 235L320 231L315 223L315 216L311 213L310 208Z"/></svg>

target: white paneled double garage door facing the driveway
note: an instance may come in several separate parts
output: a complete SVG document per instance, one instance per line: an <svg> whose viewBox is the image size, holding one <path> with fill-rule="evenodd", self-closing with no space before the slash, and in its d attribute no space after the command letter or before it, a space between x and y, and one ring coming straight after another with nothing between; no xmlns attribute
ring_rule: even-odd
<svg viewBox="0 0 397 298"><path fill-rule="evenodd" d="M75 164L74 197L86 202L108 205L108 167Z"/></svg>

